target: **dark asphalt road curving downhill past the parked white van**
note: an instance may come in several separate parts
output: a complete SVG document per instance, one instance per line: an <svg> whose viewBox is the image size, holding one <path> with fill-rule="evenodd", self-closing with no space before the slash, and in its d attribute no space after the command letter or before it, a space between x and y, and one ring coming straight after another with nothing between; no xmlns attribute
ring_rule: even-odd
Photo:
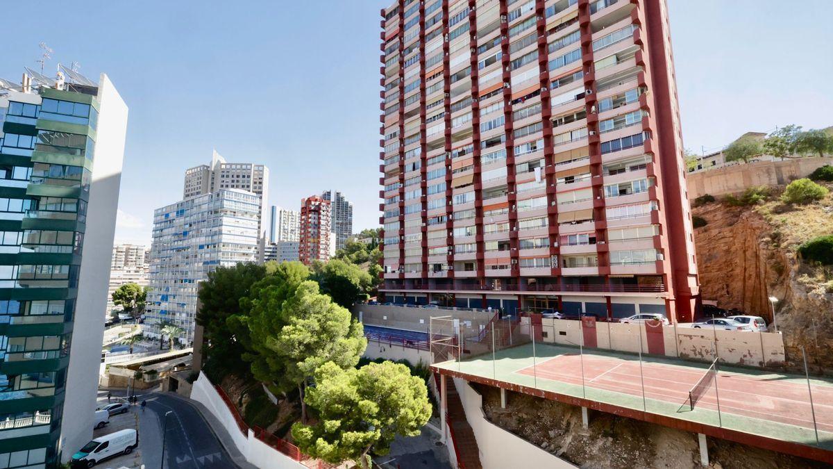
<svg viewBox="0 0 833 469"><path fill-rule="evenodd" d="M142 397L147 400L147 411L156 413L160 433L164 427L165 413L172 412L167 416L163 468L226 469L237 467L197 409L164 394L154 393ZM162 452L162 448L157 448L157 451Z"/></svg>

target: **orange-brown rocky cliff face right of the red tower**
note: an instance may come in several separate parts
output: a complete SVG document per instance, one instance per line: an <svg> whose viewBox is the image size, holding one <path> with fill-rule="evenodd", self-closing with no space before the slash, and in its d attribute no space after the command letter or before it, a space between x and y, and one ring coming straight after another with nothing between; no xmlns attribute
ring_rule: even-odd
<svg viewBox="0 0 833 469"><path fill-rule="evenodd" d="M771 322L770 296L788 360L801 361L801 345L815 366L833 369L833 269L807 265L797 255L806 240L833 233L833 199L790 207L772 197L764 204L705 204L692 213L706 219L695 230L703 300Z"/></svg>

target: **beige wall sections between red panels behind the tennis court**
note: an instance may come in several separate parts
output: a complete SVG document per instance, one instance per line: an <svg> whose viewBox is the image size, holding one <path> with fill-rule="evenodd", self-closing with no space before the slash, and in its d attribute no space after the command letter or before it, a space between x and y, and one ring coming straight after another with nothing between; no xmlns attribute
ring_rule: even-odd
<svg viewBox="0 0 833 469"><path fill-rule="evenodd" d="M541 319L542 341L558 345L581 344L581 321ZM529 318L521 318L521 334L529 335ZM771 332L708 330L691 327L663 327L666 356L711 361L714 344L721 363L746 366L778 366L785 361L784 337ZM715 340L716 339L716 340ZM641 348L640 348L641 342ZM596 323L596 344L600 349L630 353L648 352L643 325L616 322Z"/></svg>

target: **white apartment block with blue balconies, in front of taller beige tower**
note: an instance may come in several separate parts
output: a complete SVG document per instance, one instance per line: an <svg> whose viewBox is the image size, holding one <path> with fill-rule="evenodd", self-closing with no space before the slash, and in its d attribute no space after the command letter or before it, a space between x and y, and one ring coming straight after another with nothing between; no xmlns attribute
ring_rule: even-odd
<svg viewBox="0 0 833 469"><path fill-rule="evenodd" d="M241 189L220 189L156 209L153 214L150 291L146 335L158 337L162 325L193 340L197 284L217 266L257 260L261 199Z"/></svg>

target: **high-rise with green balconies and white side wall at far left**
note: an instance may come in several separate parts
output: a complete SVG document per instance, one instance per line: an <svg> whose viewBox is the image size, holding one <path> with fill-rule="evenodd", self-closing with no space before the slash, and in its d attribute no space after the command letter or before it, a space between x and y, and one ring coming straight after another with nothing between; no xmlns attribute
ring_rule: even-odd
<svg viewBox="0 0 833 469"><path fill-rule="evenodd" d="M92 438L127 106L107 75L0 80L0 465Z"/></svg>

